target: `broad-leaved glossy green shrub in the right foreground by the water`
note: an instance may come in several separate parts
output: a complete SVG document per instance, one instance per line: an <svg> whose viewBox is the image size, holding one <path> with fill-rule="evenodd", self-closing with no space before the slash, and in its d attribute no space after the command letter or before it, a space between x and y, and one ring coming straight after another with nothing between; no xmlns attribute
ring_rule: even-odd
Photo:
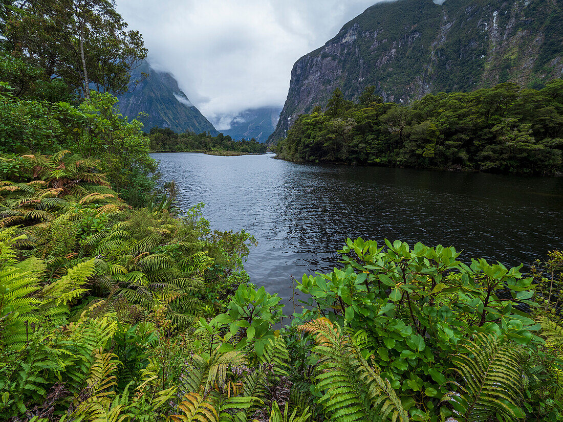
<svg viewBox="0 0 563 422"><path fill-rule="evenodd" d="M521 274L521 266L509 269L484 259L468 266L458 261L454 248L418 243L411 249L400 241L378 246L348 239L340 252L342 270L303 276L297 288L311 297L302 300L306 309L295 317L325 317L352 333L364 333L367 356L373 356L382 379L413 419L424 419L428 412L451 415L440 407L450 395L448 382L454 381L445 372L452 354L472 336L506 338L520 347L542 343L535 334L540 326L520 310L537 306L531 300L533 279ZM310 345L291 330L288 334L294 348L305 349L295 356L305 362L297 368L307 373L316 365L307 357Z"/></svg>

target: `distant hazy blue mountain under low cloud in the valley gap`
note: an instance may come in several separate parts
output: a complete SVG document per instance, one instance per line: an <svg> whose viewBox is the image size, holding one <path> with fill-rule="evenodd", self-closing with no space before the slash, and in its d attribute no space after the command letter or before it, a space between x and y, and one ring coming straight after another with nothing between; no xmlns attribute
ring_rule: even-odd
<svg viewBox="0 0 563 422"><path fill-rule="evenodd" d="M280 107L245 110L233 119L230 129L222 132L235 141L254 138L258 142L266 142L278 124L280 111Z"/></svg>

